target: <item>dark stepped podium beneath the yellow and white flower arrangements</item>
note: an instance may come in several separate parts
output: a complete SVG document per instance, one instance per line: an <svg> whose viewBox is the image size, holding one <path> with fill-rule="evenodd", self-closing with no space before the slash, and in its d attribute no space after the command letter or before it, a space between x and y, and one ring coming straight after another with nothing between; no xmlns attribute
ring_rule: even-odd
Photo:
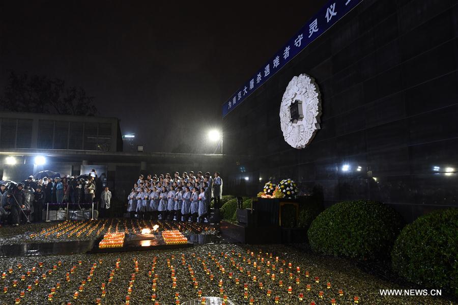
<svg viewBox="0 0 458 305"><path fill-rule="evenodd" d="M221 235L249 244L291 242L291 238L285 236L285 230L282 228L281 212L286 205L295 209L294 219L297 223L299 204L299 200L292 199L252 198L250 209L237 209L236 223L221 221ZM291 233L289 235L291 237Z"/></svg>

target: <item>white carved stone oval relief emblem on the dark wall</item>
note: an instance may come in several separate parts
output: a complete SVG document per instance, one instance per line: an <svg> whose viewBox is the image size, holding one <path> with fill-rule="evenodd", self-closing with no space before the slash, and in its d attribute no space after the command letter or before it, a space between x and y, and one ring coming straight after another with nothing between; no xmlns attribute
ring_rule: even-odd
<svg viewBox="0 0 458 305"><path fill-rule="evenodd" d="M284 141L301 149L320 129L321 96L318 85L307 74L294 76L283 94L280 126Z"/></svg>

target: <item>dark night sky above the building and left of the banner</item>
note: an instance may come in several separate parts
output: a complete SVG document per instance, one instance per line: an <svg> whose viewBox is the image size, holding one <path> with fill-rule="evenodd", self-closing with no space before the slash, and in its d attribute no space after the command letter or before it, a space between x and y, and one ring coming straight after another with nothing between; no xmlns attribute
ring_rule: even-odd
<svg viewBox="0 0 458 305"><path fill-rule="evenodd" d="M1 1L0 94L58 77L146 151L213 152L221 104L325 3Z"/></svg>

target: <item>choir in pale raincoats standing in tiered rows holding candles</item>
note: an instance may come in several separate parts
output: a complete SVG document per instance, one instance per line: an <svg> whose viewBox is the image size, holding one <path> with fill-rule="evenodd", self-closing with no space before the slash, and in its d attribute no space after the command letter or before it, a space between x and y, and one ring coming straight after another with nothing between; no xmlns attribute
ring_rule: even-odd
<svg viewBox="0 0 458 305"><path fill-rule="evenodd" d="M220 208L222 179L216 172L140 175L127 197L127 211L131 218L169 219L182 221L208 220L210 202Z"/></svg>

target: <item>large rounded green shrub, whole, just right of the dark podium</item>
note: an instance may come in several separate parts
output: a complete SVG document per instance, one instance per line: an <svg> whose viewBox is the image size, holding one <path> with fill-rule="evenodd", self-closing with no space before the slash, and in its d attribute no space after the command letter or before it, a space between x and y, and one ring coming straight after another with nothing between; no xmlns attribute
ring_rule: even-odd
<svg viewBox="0 0 458 305"><path fill-rule="evenodd" d="M389 206L371 201L337 203L315 218L308 229L313 251L357 259L389 257L401 220Z"/></svg>

